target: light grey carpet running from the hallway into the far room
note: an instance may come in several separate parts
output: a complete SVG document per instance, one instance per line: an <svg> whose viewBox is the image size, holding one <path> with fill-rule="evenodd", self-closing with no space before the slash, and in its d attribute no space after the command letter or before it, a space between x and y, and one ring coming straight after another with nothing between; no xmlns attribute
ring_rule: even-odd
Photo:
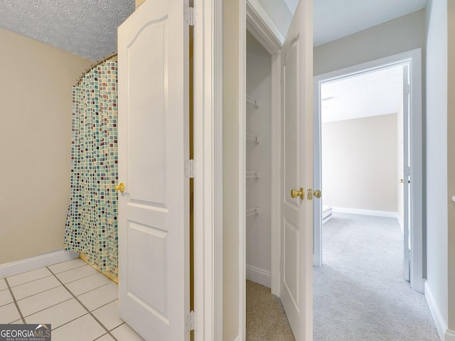
<svg viewBox="0 0 455 341"><path fill-rule="evenodd" d="M333 212L313 268L314 341L439 341L425 296L403 279L396 218Z"/></svg>

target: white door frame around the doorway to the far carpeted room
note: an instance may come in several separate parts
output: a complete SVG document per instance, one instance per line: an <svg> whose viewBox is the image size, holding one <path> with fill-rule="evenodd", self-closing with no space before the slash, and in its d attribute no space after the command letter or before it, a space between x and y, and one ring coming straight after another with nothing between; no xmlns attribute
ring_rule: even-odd
<svg viewBox="0 0 455 341"><path fill-rule="evenodd" d="M330 80L341 79L360 74L368 70L380 69L387 65L410 64L411 101L410 101L410 158L411 158L411 198L410 231L411 233L411 288L424 292L423 278L423 143L422 143L422 49L417 48L404 53L390 55L367 63L345 67L333 72L314 76L314 176L315 188L321 181L321 84ZM319 178L318 178L319 176ZM317 210L317 211L316 211ZM314 219L321 220L321 207L316 207ZM315 224L314 251L322 249L322 224L320 229ZM316 230L317 229L317 230ZM314 265L321 266L322 259L314 257Z"/></svg>

